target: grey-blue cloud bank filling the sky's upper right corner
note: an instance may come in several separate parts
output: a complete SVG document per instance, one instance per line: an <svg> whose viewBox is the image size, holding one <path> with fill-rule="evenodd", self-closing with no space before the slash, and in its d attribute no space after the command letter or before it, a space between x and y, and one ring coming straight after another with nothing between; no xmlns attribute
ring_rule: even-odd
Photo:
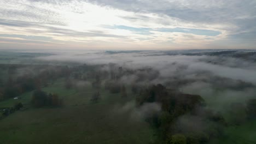
<svg viewBox="0 0 256 144"><path fill-rule="evenodd" d="M101 5L134 11L136 13L155 13L175 17L190 23L223 25L224 31L229 33L245 32L240 39L247 39L246 35L254 34L256 22L255 1L91 1ZM226 25L226 26L225 26ZM213 26L214 27L214 26ZM233 27L232 29L230 29ZM255 40L255 35L253 37Z"/></svg>

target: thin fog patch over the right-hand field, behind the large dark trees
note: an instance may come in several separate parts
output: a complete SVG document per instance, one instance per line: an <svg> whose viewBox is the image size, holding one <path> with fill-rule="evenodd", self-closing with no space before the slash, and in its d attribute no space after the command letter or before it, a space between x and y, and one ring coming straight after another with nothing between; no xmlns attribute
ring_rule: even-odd
<svg viewBox="0 0 256 144"><path fill-rule="evenodd" d="M181 89L183 93L201 95L206 100L207 106L216 111L226 110L232 103L245 104L256 96L254 87L242 90L216 89L211 83L206 82L190 83Z"/></svg>

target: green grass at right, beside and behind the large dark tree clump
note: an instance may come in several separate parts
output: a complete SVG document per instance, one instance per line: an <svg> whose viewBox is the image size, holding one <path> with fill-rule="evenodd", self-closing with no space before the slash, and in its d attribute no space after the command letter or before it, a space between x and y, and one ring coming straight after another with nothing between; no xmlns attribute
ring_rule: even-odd
<svg viewBox="0 0 256 144"><path fill-rule="evenodd" d="M206 105L212 110L216 110L219 112L222 112L222 115L224 116L226 121L229 121L230 113L230 104L233 102L238 101L237 97L229 97L228 103L227 101L224 101L219 95L221 91L217 89L214 94L208 96L207 93L197 93L197 92L192 92L193 94L199 94L203 97L203 99L206 100ZM191 92L190 92L191 93ZM221 101L223 100L223 101ZM240 100L241 103L245 102L244 98L241 98ZM234 117L239 117L239 116L234 116ZM224 137L222 139L216 139L210 141L210 144L253 144L256 143L256 121L249 121L242 123L241 125L238 126L231 126L229 125L228 127L224 128Z"/></svg>

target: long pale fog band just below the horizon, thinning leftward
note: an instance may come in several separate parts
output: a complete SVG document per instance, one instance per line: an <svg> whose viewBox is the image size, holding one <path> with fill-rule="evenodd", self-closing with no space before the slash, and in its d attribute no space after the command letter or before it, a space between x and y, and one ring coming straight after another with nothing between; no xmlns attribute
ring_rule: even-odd
<svg viewBox="0 0 256 144"><path fill-rule="evenodd" d="M256 84L256 66L252 62L225 58L222 65L207 63L202 59L217 61L218 57L212 56L184 56L174 55L158 56L161 52L137 52L137 53L115 53L109 54L103 51L88 51L85 53L60 53L59 55L38 57L44 61L77 62L81 64L108 64L116 63L122 67L138 69L152 67L159 70L160 77L175 76L177 73L184 76L198 73L198 71L210 71L214 75L228 77L230 79L243 80ZM153 55L154 54L154 55ZM219 58L219 63L223 58ZM236 67L231 67L237 65ZM246 67L245 67L246 65ZM251 65L251 66L250 66ZM240 67L241 66L241 67ZM248 68L247 68L248 67ZM183 68L183 69L182 69ZM104 67L103 69L108 69Z"/></svg>

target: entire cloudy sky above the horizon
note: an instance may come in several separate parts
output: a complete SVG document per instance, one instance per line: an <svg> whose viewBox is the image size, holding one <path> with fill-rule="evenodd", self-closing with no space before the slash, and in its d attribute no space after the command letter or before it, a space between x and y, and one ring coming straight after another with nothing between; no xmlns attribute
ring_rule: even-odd
<svg viewBox="0 0 256 144"><path fill-rule="evenodd" d="M1 0L0 49L256 49L255 0Z"/></svg>

